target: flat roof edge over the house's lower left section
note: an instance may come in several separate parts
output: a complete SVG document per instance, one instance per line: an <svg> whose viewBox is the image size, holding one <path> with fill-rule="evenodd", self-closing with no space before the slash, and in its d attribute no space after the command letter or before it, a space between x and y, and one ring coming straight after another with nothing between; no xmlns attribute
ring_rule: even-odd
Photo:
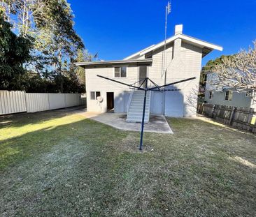
<svg viewBox="0 0 256 217"><path fill-rule="evenodd" d="M127 60L114 60L114 61L94 61L94 62L78 62L75 63L76 66L82 66L86 68L87 66L106 66L106 65L129 65L129 64L143 64L150 65L152 59L127 59Z"/></svg>

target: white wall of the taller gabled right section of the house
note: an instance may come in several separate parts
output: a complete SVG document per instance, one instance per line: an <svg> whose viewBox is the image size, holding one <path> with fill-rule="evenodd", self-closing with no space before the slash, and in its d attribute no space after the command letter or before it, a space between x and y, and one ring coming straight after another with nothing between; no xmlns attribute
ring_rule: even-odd
<svg viewBox="0 0 256 217"><path fill-rule="evenodd" d="M164 75L162 73L162 52L156 50L153 52L153 62L150 67L150 78L157 84L164 84ZM166 93L165 115L173 117L193 117L197 114L197 98L199 89L199 78L201 71L202 49L187 43L182 43L180 39L176 40L173 45L166 49L166 83L185 80L189 77L197 77L195 80L176 84L169 89L180 89L178 94ZM177 98L177 96L180 96ZM183 105L180 100L183 98ZM176 101L177 100L177 101ZM169 102L172 102L171 104ZM178 107L173 109L173 103Z"/></svg>

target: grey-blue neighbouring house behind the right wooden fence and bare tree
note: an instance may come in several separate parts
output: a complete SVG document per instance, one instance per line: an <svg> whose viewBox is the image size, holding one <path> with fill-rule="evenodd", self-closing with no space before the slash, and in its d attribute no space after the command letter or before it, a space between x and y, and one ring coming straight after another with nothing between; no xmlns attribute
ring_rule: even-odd
<svg viewBox="0 0 256 217"><path fill-rule="evenodd" d="M231 88L218 89L211 84L215 73L206 73L206 91L204 101L215 105L250 107L256 110L256 102L248 92L239 92Z"/></svg>

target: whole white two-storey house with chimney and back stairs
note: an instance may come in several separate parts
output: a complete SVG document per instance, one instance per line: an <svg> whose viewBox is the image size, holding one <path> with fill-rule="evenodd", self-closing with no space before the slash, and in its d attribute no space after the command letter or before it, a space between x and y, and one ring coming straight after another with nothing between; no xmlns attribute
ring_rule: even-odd
<svg viewBox="0 0 256 217"><path fill-rule="evenodd" d="M183 25L175 27L174 36L166 39L165 52L165 43L162 41L123 60L76 63L77 66L85 68L87 111L107 112L114 109L114 112L127 112L127 121L141 121L143 91L133 91L97 75L127 84L138 82L136 85L145 77L158 85L196 77L195 80L169 87L180 91L148 91L145 122L149 120L150 114L164 114L169 117L196 115L197 100L192 103L190 98L198 91L201 59L212 50L221 51L222 47L186 36L182 31Z"/></svg>

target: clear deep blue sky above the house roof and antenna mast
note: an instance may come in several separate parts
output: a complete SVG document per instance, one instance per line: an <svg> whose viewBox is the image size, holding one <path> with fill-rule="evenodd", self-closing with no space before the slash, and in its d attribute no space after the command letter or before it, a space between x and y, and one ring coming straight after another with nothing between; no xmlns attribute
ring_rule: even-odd
<svg viewBox="0 0 256 217"><path fill-rule="evenodd" d="M104 60L123 59L164 40L167 0L69 0L75 29L90 53ZM221 45L209 59L234 54L256 39L256 0L173 0L167 36L183 24L183 33Z"/></svg>

